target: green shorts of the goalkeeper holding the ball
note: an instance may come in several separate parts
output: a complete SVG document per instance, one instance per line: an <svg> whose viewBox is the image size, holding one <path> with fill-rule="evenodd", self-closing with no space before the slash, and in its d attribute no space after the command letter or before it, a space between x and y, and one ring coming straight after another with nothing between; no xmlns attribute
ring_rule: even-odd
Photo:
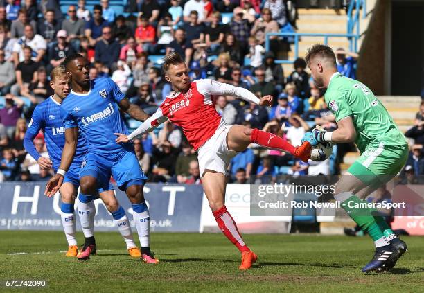
<svg viewBox="0 0 424 293"><path fill-rule="evenodd" d="M408 159L408 145L384 145L370 143L361 157L348 168L366 185L381 185L395 177Z"/></svg>

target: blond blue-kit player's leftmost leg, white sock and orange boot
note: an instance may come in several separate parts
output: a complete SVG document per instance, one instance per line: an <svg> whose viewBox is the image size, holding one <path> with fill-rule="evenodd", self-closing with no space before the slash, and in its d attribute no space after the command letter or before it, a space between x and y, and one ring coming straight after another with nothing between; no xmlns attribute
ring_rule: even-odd
<svg viewBox="0 0 424 293"><path fill-rule="evenodd" d="M65 182L59 189L62 204L60 204L60 218L67 236L68 251L66 256L77 256L78 246L75 238L76 217L73 205L75 203L76 188L70 182Z"/></svg>

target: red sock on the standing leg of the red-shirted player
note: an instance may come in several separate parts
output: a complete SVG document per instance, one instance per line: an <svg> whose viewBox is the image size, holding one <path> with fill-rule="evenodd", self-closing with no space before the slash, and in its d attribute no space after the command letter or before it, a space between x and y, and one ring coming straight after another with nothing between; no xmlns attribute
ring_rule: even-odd
<svg viewBox="0 0 424 293"><path fill-rule="evenodd" d="M240 232L238 232L237 224L234 222L233 217L227 211L226 206L222 206L219 210L213 211L213 216L215 217L216 222L218 223L218 227L220 227L222 233L233 243L236 245L240 252L249 251L249 247L245 245Z"/></svg>

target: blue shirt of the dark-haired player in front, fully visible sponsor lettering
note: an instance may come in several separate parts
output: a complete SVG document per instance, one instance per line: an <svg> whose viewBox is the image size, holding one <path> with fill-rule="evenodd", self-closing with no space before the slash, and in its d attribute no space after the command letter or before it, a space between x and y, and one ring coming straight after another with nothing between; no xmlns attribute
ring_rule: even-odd
<svg viewBox="0 0 424 293"><path fill-rule="evenodd" d="M114 133L128 134L118 103L125 98L110 78L91 80L87 94L71 91L60 107L65 128L78 127L87 139L89 152L116 154L127 150L116 143Z"/></svg>

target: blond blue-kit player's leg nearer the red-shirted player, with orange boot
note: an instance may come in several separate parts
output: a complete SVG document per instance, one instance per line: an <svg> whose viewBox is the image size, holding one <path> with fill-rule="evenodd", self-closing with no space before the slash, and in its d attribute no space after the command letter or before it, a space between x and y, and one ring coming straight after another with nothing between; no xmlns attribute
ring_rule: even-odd
<svg viewBox="0 0 424 293"><path fill-rule="evenodd" d="M130 226L130 220L128 220L127 214L122 206L119 205L118 200L115 197L114 190L107 190L103 193L99 193L100 199L105 203L107 211L112 213L114 223L118 227L119 233L125 240L127 251L133 258L140 258L141 253L139 247L134 242L132 236L132 230Z"/></svg>

